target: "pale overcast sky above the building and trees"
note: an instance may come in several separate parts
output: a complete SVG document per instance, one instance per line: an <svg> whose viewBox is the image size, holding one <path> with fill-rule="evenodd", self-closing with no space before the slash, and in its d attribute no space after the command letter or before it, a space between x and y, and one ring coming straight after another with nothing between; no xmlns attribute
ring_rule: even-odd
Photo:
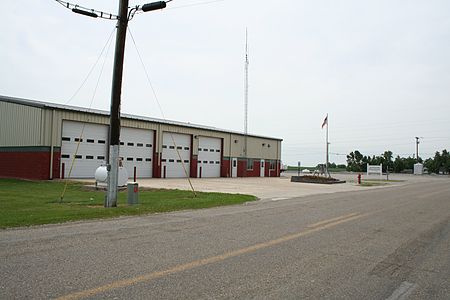
<svg viewBox="0 0 450 300"><path fill-rule="evenodd" d="M284 163L325 160L327 113L336 163L355 149L413 155L415 136L422 157L450 149L450 1L204 2L173 0L130 22L167 119L243 131L247 27L249 132L282 138ZM0 94L67 103L105 48L69 104L89 107L99 80L92 107L109 110L114 21L54 0L2 0L0 17ZM125 54L122 112L161 118L130 35Z"/></svg>

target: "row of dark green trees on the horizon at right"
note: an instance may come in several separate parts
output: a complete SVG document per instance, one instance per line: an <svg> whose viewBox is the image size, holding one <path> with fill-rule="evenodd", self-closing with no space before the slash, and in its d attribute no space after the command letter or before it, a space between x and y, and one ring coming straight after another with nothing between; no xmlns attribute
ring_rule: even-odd
<svg viewBox="0 0 450 300"><path fill-rule="evenodd" d="M347 155L347 171L367 172L367 164L382 164L383 172L386 172L386 169L395 173L412 172L414 164L418 162L423 163L424 169L428 173L450 173L450 154L446 149L442 150L442 153L437 151L434 157L430 157L425 161L420 157L416 159L411 156L400 157L399 155L394 159L392 151L384 151L380 155L366 156L355 150Z"/></svg>

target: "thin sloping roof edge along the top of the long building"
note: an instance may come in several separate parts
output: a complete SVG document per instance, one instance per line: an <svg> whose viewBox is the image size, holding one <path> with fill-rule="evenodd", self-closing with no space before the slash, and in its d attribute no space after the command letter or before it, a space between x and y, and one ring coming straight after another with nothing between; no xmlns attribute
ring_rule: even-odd
<svg viewBox="0 0 450 300"><path fill-rule="evenodd" d="M16 97L3 96L3 95L0 95L0 101L9 102L9 103L15 103L15 104L21 104L21 105L27 105L27 106L37 107L37 108L69 110L69 111L76 111L76 112L84 112L84 113L92 113L92 114L109 116L109 112L105 111L105 110L85 108L85 107L78 107L78 106L71 106L71 105L64 105L64 104L56 104L56 103L37 101L37 100L30 100L30 99L24 99L24 98L16 98ZM244 135L243 132L226 130L226 129L220 129L220 128L216 128L216 127L212 127L212 126L198 125L198 124L185 123L185 122L172 121L172 120L164 120L164 119L158 119L158 118L143 117L143 116L137 116L137 115L131 115L131 114L124 114L124 113L121 113L120 116L121 116L121 118L126 118L126 119L142 120L142 121L148 121L148 122L153 122L153 123L160 123L160 124L167 124L167 125L176 125L176 126L190 127L190 128L196 128L196 129L204 129L204 130L211 130L211 131L217 131L217 132L224 132L224 133L233 133L233 134ZM272 139L272 140L278 140L278 141L282 141L283 140L281 138L274 138L274 137L254 135L254 134L248 134L248 136L257 137L257 138Z"/></svg>

